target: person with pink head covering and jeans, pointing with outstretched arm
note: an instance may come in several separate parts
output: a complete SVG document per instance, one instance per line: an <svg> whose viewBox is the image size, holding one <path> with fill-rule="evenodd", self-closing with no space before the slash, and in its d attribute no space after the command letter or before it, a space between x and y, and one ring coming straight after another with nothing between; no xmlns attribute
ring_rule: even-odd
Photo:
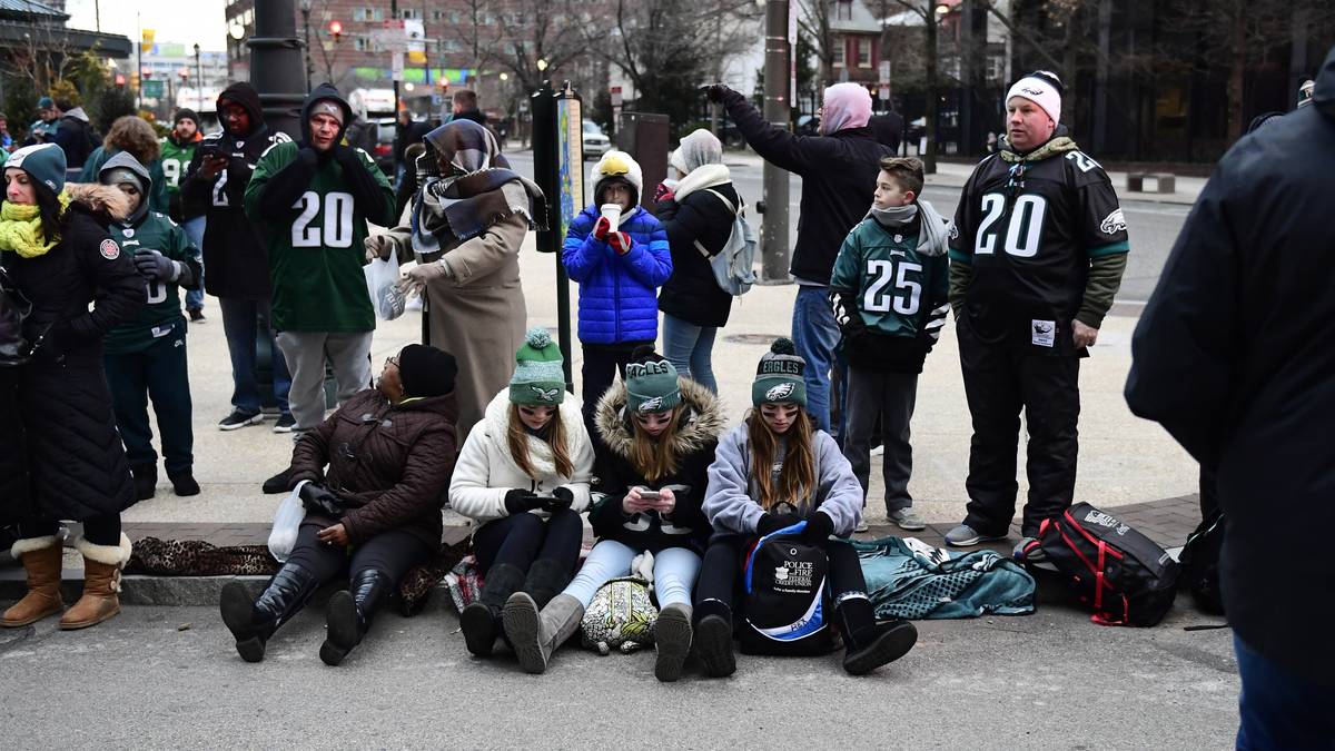
<svg viewBox="0 0 1335 751"><path fill-rule="evenodd" d="M844 237L872 204L877 164L882 156L894 154L868 127L872 95L856 83L825 90L821 135L814 136L797 136L769 124L745 96L726 86L710 86L706 94L710 100L724 103L756 154L802 178L797 245L789 267L798 283L793 343L806 362L808 410L817 428L830 432L830 412L836 406L830 405L830 371L836 367L834 347L840 338L828 299L830 273Z"/></svg>

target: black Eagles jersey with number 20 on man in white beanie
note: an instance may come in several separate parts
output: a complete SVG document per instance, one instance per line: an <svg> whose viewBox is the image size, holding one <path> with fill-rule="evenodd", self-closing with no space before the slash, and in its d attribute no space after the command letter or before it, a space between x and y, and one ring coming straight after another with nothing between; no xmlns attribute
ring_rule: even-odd
<svg viewBox="0 0 1335 751"><path fill-rule="evenodd" d="M1019 163L988 156L964 186L951 234L951 259L973 267L969 325L1049 347L1040 338L1069 330L1089 259L1128 249L1112 180L1080 151Z"/></svg>

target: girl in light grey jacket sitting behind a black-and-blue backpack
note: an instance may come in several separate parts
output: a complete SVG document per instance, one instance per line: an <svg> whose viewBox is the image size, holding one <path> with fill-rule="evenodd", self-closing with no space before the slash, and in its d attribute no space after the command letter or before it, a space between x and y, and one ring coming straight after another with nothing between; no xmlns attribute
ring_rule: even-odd
<svg viewBox="0 0 1335 751"><path fill-rule="evenodd" d="M696 645L710 678L737 669L733 592L746 551L757 537L804 520L802 541L824 547L829 561L825 585L844 636L844 669L870 672L904 656L917 640L909 621L876 624L857 551L845 540L862 514L862 486L834 438L816 429L806 413L805 367L793 342L774 342L756 369L756 409L720 441L709 466L705 514L717 535L696 589Z"/></svg>

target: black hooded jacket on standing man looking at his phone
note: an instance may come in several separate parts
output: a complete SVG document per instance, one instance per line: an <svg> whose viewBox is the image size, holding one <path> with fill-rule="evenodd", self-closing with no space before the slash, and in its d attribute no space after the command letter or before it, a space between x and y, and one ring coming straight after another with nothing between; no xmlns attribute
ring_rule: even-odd
<svg viewBox="0 0 1335 751"><path fill-rule="evenodd" d="M207 206L208 223L204 227L204 267L208 277L204 290L211 295L234 299L268 301L268 247L242 206L246 186L255 163L270 146L288 143L284 132L271 131L264 124L264 111L259 94L248 83L234 83L218 96L218 111L226 102L234 102L250 114L251 130L244 134L223 130L210 134L195 148L182 199L186 203ZM199 168L207 151L220 151L228 158L227 168L212 180L204 179Z"/></svg>

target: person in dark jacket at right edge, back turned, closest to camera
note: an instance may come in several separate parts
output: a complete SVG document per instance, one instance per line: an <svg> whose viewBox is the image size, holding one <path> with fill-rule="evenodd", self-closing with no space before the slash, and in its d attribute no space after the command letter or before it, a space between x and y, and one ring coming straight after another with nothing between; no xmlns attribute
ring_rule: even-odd
<svg viewBox="0 0 1335 751"><path fill-rule="evenodd" d="M1215 474L1228 518L1220 583L1242 673L1239 748L1335 738L1335 569L1319 536L1335 501L1332 162L1335 48L1312 106L1219 162L1131 343L1131 412Z"/></svg>

